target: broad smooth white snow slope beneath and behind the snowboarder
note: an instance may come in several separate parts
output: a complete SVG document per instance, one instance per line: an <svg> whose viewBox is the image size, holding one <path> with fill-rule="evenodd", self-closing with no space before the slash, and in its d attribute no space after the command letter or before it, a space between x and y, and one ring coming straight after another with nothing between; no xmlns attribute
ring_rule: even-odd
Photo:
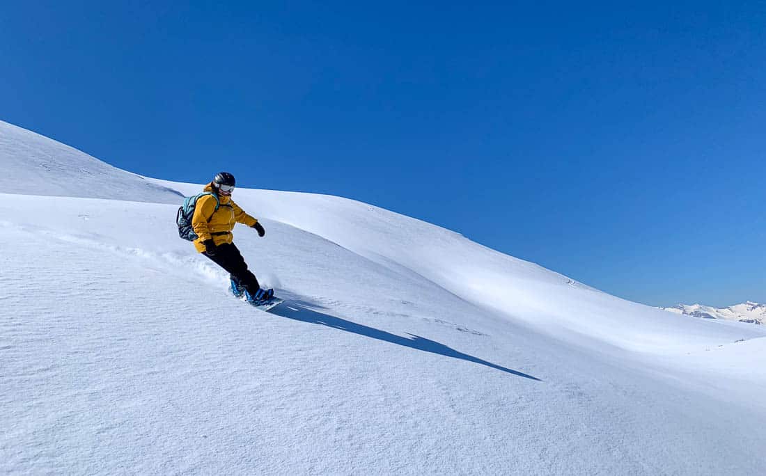
<svg viewBox="0 0 766 476"><path fill-rule="evenodd" d="M761 326L367 204L237 190L267 236L235 241L288 299L260 312L178 239L174 197L199 185L0 126L0 168L38 194L0 194L2 473L766 471ZM71 168L28 172L42 150ZM92 169L99 197L72 185Z"/></svg>

